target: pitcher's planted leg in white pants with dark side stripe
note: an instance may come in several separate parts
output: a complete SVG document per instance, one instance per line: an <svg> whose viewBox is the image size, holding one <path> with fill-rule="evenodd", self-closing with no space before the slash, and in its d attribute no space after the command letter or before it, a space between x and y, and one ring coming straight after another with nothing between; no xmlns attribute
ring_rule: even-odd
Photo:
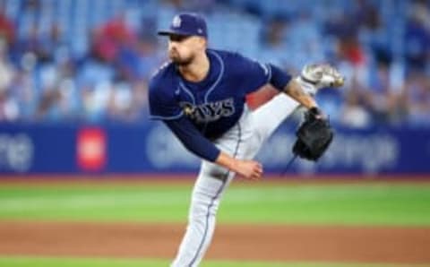
<svg viewBox="0 0 430 267"><path fill-rule="evenodd" d="M213 176L213 173L208 172L208 165L214 167L204 162L194 185L188 226L172 267L199 266L211 245L219 202L234 174L217 168L222 174Z"/></svg>

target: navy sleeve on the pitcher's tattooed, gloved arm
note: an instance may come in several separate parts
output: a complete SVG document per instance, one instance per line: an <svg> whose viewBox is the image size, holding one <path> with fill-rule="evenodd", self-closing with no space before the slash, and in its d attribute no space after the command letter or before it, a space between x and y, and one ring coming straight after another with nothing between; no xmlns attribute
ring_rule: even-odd
<svg viewBox="0 0 430 267"><path fill-rule="evenodd" d="M239 79L243 81L246 94L260 89L267 83L271 83L278 90L283 90L291 80L288 73L275 65L262 64L240 55L236 56L236 60L236 69L240 73Z"/></svg>

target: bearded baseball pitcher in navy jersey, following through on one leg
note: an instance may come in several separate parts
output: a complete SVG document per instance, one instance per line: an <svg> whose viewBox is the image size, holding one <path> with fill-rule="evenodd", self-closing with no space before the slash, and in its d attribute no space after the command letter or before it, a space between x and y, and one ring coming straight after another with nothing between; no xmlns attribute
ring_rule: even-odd
<svg viewBox="0 0 430 267"><path fill-rule="evenodd" d="M262 164L253 160L262 143L297 107L307 108L294 152L316 160L332 132L312 97L343 78L330 65L305 66L292 78L279 67L237 53L210 49L206 22L195 13L177 14L169 29L170 62L150 81L150 116L163 121L186 149L202 159L193 187L188 227L171 266L198 266L211 244L219 202L238 175L258 180ZM254 111L245 96L270 83L280 90Z"/></svg>

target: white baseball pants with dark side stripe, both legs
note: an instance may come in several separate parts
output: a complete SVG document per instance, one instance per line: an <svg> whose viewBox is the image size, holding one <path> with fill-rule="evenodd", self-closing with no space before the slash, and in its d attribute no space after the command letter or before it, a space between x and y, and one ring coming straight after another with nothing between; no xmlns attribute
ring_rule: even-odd
<svg viewBox="0 0 430 267"><path fill-rule="evenodd" d="M269 102L244 114L226 134L214 143L237 159L253 159L269 136L298 107L297 101L280 93ZM235 177L226 168L202 161L193 187L188 226L172 267L199 266L211 245L215 220L222 195Z"/></svg>

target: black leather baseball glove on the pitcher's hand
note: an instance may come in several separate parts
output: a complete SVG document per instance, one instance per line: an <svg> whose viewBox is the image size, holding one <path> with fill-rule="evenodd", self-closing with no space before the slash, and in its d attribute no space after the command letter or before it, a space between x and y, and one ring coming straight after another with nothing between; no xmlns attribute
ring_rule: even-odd
<svg viewBox="0 0 430 267"><path fill-rule="evenodd" d="M334 133L321 111L311 108L305 113L305 121L298 127L296 135L293 153L302 159L316 161L329 148Z"/></svg>

